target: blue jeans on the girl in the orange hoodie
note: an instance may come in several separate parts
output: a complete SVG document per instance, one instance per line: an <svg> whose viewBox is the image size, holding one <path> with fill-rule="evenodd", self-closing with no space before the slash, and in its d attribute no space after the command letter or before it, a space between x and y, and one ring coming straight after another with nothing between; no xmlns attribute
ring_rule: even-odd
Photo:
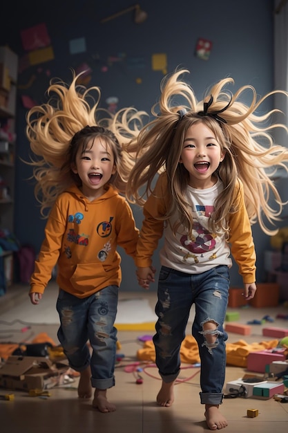
<svg viewBox="0 0 288 433"><path fill-rule="evenodd" d="M90 365L91 385L97 389L115 385L117 301L117 286L102 288L83 299L60 289L57 299L61 324L57 336L69 365L76 371L83 371Z"/></svg>

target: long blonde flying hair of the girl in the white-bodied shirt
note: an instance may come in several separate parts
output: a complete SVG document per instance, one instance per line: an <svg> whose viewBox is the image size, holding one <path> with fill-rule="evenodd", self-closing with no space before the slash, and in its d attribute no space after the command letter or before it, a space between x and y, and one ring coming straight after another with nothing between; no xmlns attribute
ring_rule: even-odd
<svg viewBox="0 0 288 433"><path fill-rule="evenodd" d="M191 232L193 221L185 196L189 174L179 160L187 129L195 123L203 122L213 131L221 149L226 153L217 170L224 188L211 214L211 228L216 232L224 230L228 237L229 213L237 211L235 191L239 178L244 186L244 202L251 224L258 221L263 232L275 234L277 229L268 228L265 218L272 225L280 220L285 203L281 201L273 183L273 175L278 167L288 172L288 149L273 142L271 131L276 128L288 130L279 123L268 124L273 113L278 110L262 115L256 114L256 110L274 94L282 93L287 97L288 93L271 91L257 100L256 90L247 85L233 94L225 89L228 84L234 83L228 77L214 84L207 96L198 102L191 86L180 80L184 73L189 71L175 71L164 78L160 100L152 107L155 118L140 131L137 138L137 162L126 189L129 201L144 205L147 197L152 194L155 176L166 172L166 194L170 210L162 219L169 220L177 210L180 223ZM251 93L249 105L240 101L247 90ZM208 104L209 98L211 100ZM184 102L181 104L179 100ZM209 105L206 115L203 114L204 103ZM183 110L186 111L184 116ZM218 113L218 120L215 113ZM271 200L276 203L277 209L271 207Z"/></svg>

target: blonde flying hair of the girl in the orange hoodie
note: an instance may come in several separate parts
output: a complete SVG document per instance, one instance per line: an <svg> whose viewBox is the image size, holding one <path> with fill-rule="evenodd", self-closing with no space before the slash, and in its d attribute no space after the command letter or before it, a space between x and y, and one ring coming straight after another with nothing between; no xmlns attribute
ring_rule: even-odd
<svg viewBox="0 0 288 433"><path fill-rule="evenodd" d="M144 117L148 116L133 107L121 109L115 114L99 108L99 87L86 89L77 84L81 74L76 75L73 70L72 73L70 85L52 79L47 90L48 102L32 107L26 116L26 135L32 156L30 161L24 162L33 167L35 197L45 218L57 196L75 183L75 176L70 169L70 145L75 135L85 131L87 125L92 129L99 127L99 131L103 127L105 131L101 133L104 140L115 149L119 142L120 150L117 151L121 162L116 165L117 176L113 176L112 181L115 188L124 194L128 174L135 163L135 148L131 147L130 151L129 143L137 137L143 127ZM111 138L113 135L114 139Z"/></svg>

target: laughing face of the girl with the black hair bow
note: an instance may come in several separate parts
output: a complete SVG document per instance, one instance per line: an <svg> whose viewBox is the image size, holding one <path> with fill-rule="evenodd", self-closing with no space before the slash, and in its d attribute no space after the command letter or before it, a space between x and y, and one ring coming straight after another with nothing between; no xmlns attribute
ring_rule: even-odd
<svg viewBox="0 0 288 433"><path fill-rule="evenodd" d="M224 159L224 151L214 133L204 123L191 126L185 135L180 163L189 172L189 185L209 188L215 183L213 173Z"/></svg>

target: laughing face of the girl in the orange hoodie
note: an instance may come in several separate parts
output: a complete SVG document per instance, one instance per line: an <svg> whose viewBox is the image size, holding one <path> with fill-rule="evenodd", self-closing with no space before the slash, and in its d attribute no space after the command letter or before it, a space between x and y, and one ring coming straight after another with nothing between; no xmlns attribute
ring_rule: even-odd
<svg viewBox="0 0 288 433"><path fill-rule="evenodd" d="M104 194L106 183L116 172L111 149L99 137L95 138L94 143L91 140L85 151L79 148L75 166L71 168L81 178L81 192L90 200Z"/></svg>

